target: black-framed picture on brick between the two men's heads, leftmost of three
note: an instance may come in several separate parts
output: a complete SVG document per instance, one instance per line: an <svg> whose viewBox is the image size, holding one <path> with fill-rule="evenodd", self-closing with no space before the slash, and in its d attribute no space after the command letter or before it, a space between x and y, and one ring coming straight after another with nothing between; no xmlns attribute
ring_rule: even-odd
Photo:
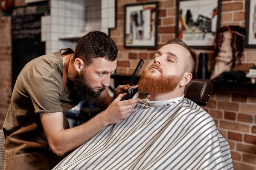
<svg viewBox="0 0 256 170"><path fill-rule="evenodd" d="M158 2L125 5L125 48L157 48Z"/></svg>

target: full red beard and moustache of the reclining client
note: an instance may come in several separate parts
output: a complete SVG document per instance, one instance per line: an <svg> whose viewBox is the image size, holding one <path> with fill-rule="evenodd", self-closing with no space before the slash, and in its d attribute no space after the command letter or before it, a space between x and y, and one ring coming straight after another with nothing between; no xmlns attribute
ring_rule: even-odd
<svg viewBox="0 0 256 170"><path fill-rule="evenodd" d="M154 76L152 75L152 71L150 70L152 67L157 67L157 69L161 72L160 75ZM143 71L140 81L139 81L139 89L142 91L149 92L151 94L162 94L169 93L175 90L177 85L180 83L182 79L181 76L163 75L163 70L158 67L158 65L151 65L146 70Z"/></svg>

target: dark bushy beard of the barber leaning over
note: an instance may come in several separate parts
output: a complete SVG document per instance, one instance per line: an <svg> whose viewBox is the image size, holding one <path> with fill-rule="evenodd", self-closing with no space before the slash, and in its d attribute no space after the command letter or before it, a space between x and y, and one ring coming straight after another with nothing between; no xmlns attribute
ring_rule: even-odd
<svg viewBox="0 0 256 170"><path fill-rule="evenodd" d="M87 102L98 102L101 95L100 90L94 91L90 88L87 77L84 74L79 74L74 79L74 90L76 94Z"/></svg>

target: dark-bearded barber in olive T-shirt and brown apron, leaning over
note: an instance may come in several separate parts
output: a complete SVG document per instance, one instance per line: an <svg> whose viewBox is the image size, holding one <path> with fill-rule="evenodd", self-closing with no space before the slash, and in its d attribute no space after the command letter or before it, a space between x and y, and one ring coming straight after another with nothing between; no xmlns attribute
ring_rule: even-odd
<svg viewBox="0 0 256 170"><path fill-rule="evenodd" d="M120 101L129 85L118 86L113 99L105 89L116 63L115 42L99 31L81 37L75 51L61 49L27 63L3 124L5 169L52 169L100 130L131 115L138 98ZM64 112L81 99L96 102L102 112L69 128Z"/></svg>

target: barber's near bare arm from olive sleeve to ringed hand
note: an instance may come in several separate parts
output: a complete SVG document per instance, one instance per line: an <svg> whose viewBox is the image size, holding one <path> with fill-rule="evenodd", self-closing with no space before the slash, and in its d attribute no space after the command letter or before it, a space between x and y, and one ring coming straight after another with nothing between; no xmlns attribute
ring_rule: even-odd
<svg viewBox="0 0 256 170"><path fill-rule="evenodd" d="M41 122L52 152L62 156L87 142L106 126L130 116L129 109L133 111L139 99L120 101L124 96L125 94L119 94L105 111L99 113L83 125L66 130L64 130L62 125L62 112L40 113Z"/></svg>

